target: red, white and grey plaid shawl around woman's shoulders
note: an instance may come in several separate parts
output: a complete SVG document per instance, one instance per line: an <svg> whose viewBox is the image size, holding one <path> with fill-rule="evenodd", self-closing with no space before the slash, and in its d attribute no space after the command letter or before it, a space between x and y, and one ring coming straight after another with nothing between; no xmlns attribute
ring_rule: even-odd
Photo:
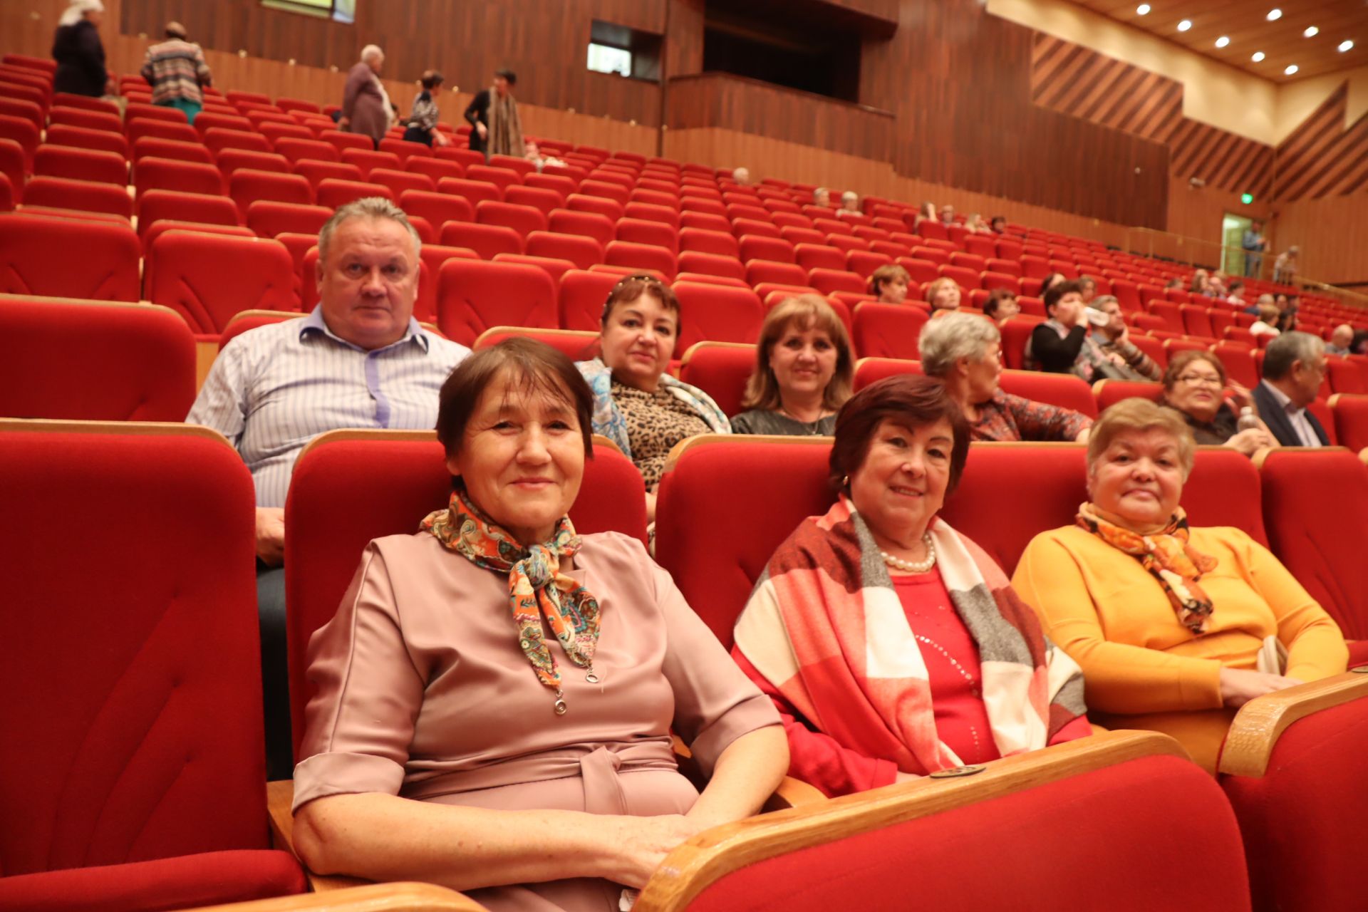
<svg viewBox="0 0 1368 912"><path fill-rule="evenodd" d="M1078 665L977 544L930 526L941 578L978 645L1001 756L1045 747L1085 712ZM904 773L960 766L937 736L930 684L869 526L843 496L778 547L736 622L736 645L810 725Z"/></svg>

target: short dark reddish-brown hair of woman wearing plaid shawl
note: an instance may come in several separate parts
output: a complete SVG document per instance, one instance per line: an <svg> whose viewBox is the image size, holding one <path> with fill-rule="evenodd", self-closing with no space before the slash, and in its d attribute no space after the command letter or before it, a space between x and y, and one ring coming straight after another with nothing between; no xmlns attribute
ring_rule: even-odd
<svg viewBox="0 0 1368 912"><path fill-rule="evenodd" d="M848 476L865 465L874 431L885 420L912 427L949 421L955 443L949 454L949 483L945 496L955 492L969 459L969 423L959 405L934 377L902 373L871 383L841 406L836 414L836 442L832 444L832 487L848 491Z"/></svg>

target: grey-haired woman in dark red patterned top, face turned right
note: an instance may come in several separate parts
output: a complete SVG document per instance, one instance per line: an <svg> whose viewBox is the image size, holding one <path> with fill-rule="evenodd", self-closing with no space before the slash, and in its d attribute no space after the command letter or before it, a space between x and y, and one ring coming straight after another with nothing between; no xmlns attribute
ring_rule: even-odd
<svg viewBox="0 0 1368 912"><path fill-rule="evenodd" d="M1086 414L1003 392L1003 336L992 320L947 313L922 327L917 345L922 371L945 384L974 440L1088 439Z"/></svg>

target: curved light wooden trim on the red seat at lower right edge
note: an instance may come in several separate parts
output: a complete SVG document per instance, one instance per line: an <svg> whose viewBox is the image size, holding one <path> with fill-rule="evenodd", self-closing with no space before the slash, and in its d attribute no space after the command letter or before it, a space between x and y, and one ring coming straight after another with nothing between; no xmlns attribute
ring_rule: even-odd
<svg viewBox="0 0 1368 912"><path fill-rule="evenodd" d="M1368 669L1365 669L1368 670ZM1323 681L1275 690L1239 707L1220 751L1218 773L1261 777L1278 738L1297 719L1312 712L1368 697L1368 674L1346 671Z"/></svg>

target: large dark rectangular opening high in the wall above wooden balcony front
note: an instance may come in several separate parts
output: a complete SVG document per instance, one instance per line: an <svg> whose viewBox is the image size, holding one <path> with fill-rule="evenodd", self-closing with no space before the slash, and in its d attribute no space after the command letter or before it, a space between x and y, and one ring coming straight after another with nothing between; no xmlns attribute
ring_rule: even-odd
<svg viewBox="0 0 1368 912"><path fill-rule="evenodd" d="M859 101L860 33L813 10L793 0L707 0L703 70Z"/></svg>

